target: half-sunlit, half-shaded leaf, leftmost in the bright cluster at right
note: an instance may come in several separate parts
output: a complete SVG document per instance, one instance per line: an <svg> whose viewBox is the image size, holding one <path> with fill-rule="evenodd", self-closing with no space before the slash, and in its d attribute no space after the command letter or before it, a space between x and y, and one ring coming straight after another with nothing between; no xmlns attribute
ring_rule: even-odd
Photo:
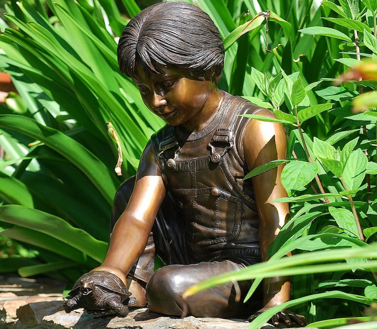
<svg viewBox="0 0 377 329"><path fill-rule="evenodd" d="M335 176L341 176L343 167L342 163L340 162L339 150L336 150L330 144L314 137L313 153Z"/></svg>

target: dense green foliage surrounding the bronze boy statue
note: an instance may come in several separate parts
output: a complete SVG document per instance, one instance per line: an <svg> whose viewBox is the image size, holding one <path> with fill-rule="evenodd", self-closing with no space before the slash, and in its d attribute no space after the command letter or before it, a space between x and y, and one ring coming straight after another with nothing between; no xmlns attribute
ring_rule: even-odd
<svg viewBox="0 0 377 329"><path fill-rule="evenodd" d="M350 315L370 320L363 312L377 300L377 111L355 114L352 100L374 91L377 79L333 82L360 58L376 61L377 2L193 2L224 38L219 88L271 109L287 129L286 160L248 177L287 163L282 183L290 197L281 201L291 202L269 262L202 287L296 274L284 306L326 320L313 326L344 324ZM139 11L133 0L121 4L130 17ZM162 122L118 72L115 39L127 20L115 2L12 0L5 12L0 23L11 27L0 36L0 67L19 95L0 106L0 235L20 244L14 256L2 249L0 272L74 282L103 259L116 188L135 174ZM113 170L117 146L107 121L121 140L122 177ZM289 251L296 255L282 258Z"/></svg>

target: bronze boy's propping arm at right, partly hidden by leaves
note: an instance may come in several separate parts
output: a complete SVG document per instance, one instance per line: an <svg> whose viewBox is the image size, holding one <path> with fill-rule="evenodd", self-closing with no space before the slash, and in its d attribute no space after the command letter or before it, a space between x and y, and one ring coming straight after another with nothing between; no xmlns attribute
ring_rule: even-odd
<svg viewBox="0 0 377 329"><path fill-rule="evenodd" d="M258 115L276 118L268 110L262 110L258 112ZM285 130L280 123L251 119L245 130L243 146L245 162L249 171L271 160L285 159L287 149ZM287 196L287 192L280 182L283 167L284 165L280 165L251 178L259 214L262 261L266 261L268 247L275 240L277 233L289 216L288 203L272 202L275 199ZM287 302L289 295L290 280L288 277L265 279L263 284L264 308L261 311ZM296 322L302 326L306 321L301 315L290 312L279 312L271 320L275 325L279 322L288 325Z"/></svg>

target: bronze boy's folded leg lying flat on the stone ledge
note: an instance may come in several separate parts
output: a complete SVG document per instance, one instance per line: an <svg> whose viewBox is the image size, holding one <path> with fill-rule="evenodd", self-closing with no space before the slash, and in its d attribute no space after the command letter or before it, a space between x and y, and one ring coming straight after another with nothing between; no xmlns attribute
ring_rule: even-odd
<svg viewBox="0 0 377 329"><path fill-rule="evenodd" d="M244 265L230 260L162 267L147 284L148 308L152 312L175 316L248 316L261 308L261 300L255 297L243 303L252 280L238 282L236 287L233 283L219 285L182 300L182 294L193 284L240 268ZM262 294L256 292L255 296Z"/></svg>

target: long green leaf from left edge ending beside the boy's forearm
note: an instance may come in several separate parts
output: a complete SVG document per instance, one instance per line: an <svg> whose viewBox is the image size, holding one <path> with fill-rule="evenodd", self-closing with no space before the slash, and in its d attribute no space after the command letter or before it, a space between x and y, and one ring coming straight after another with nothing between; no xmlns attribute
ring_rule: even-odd
<svg viewBox="0 0 377 329"><path fill-rule="evenodd" d="M46 212L8 205L0 207L0 218L7 223L48 234L86 253L98 262L102 262L106 255L107 243L96 240L84 230L75 228L65 220Z"/></svg>

